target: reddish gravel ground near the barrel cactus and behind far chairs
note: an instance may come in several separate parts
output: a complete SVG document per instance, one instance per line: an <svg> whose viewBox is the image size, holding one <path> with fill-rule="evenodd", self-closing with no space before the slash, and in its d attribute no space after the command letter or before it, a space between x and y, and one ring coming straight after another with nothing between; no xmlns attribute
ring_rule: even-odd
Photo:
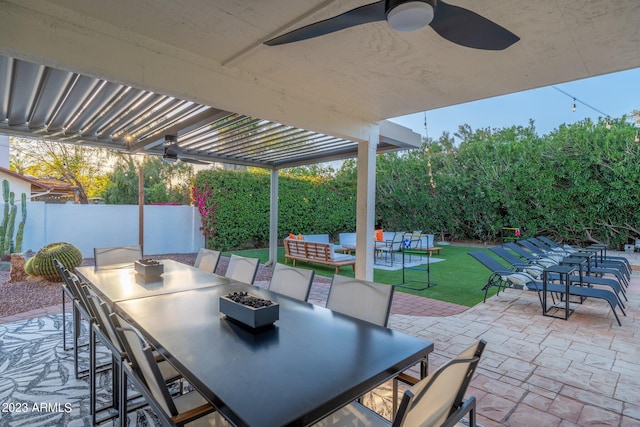
<svg viewBox="0 0 640 427"><path fill-rule="evenodd" d="M148 258L173 259L193 265L196 254L149 255ZM221 257L216 272L224 274L227 271L228 263L228 257ZM82 265L93 265L93 258L84 259ZM269 281L270 279L271 269L261 264L256 275L256 282ZM9 272L0 272L0 317L62 304L60 282L49 282L41 278L15 283L7 283L8 280Z"/></svg>

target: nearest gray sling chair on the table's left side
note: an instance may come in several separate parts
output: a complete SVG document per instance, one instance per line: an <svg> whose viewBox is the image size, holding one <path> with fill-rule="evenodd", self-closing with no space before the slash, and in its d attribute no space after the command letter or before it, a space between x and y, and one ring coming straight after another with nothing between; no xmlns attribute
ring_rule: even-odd
<svg viewBox="0 0 640 427"><path fill-rule="evenodd" d="M188 426L191 422L197 422L197 425L230 426L197 391L172 396L149 343L121 316L112 313L111 317L131 362L130 365L125 365L128 378L162 419L163 425Z"/></svg>

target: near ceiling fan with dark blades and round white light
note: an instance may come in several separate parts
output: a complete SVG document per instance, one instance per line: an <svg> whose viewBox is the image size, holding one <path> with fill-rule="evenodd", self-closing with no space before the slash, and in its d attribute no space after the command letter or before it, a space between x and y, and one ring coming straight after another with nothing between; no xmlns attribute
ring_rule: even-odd
<svg viewBox="0 0 640 427"><path fill-rule="evenodd" d="M384 20L397 31L413 31L429 25L446 40L473 49L503 50L520 40L495 22L441 0L380 0L290 31L264 44L293 43Z"/></svg>

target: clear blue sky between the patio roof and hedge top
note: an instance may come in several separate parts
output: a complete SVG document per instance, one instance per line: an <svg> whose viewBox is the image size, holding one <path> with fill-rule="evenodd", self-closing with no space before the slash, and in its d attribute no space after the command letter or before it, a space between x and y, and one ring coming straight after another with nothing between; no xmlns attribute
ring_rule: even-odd
<svg viewBox="0 0 640 427"><path fill-rule="evenodd" d="M640 110L640 68L554 86L570 96L547 86L429 110L426 112L427 135L433 139L438 139L444 131L453 135L465 123L473 130L528 126L530 119L534 120L536 132L544 135L562 123L571 124L587 117L594 121L606 116L619 118ZM574 97L575 112L572 111ZM390 120L425 136L424 112Z"/></svg>

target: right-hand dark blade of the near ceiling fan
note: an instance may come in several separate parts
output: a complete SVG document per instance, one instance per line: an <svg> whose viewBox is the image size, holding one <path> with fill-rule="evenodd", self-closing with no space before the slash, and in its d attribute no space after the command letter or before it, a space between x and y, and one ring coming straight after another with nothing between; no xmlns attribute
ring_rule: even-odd
<svg viewBox="0 0 640 427"><path fill-rule="evenodd" d="M468 9L438 1L431 28L446 40L483 50L503 50L520 40L506 28Z"/></svg>

